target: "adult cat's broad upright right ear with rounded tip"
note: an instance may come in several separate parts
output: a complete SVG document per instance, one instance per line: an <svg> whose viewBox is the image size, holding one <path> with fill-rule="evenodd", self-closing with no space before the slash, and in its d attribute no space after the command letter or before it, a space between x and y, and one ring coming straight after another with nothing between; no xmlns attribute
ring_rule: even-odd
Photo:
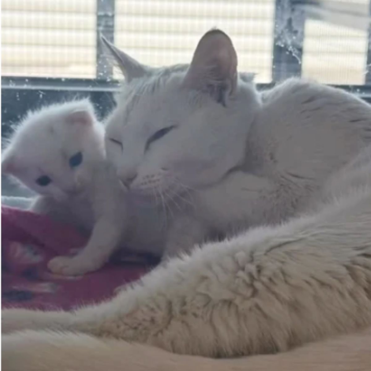
<svg viewBox="0 0 371 371"><path fill-rule="evenodd" d="M237 54L231 39L223 31L211 30L201 38L183 86L209 92L224 105L236 92Z"/></svg>

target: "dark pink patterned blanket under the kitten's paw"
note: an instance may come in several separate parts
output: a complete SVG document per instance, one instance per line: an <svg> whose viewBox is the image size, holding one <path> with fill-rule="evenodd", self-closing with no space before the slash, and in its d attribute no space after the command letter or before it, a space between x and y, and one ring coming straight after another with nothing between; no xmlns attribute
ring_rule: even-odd
<svg viewBox="0 0 371 371"><path fill-rule="evenodd" d="M85 245L85 236L45 216L11 207L1 207L1 227L3 307L71 309L99 302L154 264L149 256L121 253L81 277L54 275L46 268L49 259L76 253Z"/></svg>

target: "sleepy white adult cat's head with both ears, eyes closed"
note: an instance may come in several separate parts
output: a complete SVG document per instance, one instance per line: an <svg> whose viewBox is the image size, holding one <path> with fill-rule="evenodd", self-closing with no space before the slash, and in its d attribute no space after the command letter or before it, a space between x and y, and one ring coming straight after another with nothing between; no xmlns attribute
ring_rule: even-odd
<svg viewBox="0 0 371 371"><path fill-rule="evenodd" d="M251 74L238 76L225 33L207 32L189 66L151 68L106 44L125 76L106 150L131 190L149 196L205 187L243 160L259 96Z"/></svg>

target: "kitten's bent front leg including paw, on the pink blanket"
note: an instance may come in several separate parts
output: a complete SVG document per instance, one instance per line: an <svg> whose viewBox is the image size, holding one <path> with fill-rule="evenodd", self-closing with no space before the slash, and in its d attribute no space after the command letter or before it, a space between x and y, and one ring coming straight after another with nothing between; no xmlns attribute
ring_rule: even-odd
<svg viewBox="0 0 371 371"><path fill-rule="evenodd" d="M102 267L112 255L122 236L122 221L101 218L93 228L88 244L76 256L57 256L49 269L62 275L82 275Z"/></svg>

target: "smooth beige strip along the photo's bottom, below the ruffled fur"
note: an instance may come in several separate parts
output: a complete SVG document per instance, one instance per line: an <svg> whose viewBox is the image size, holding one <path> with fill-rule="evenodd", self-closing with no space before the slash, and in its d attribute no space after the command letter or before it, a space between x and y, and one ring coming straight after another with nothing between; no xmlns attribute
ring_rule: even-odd
<svg viewBox="0 0 371 371"><path fill-rule="evenodd" d="M1 363L4 371L362 371L371 365L370 344L367 329L275 355L212 359L81 333L24 331L2 337Z"/></svg>

